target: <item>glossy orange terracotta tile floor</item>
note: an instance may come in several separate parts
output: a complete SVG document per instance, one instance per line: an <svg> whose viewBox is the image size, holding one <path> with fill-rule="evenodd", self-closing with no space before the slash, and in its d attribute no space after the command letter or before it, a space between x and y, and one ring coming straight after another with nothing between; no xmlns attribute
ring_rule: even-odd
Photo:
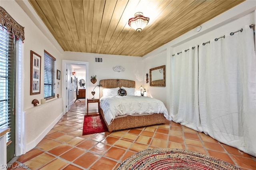
<svg viewBox="0 0 256 170"><path fill-rule="evenodd" d="M133 128L82 136L85 100L77 101L17 164L37 170L113 170L123 160L147 148L180 148L220 158L244 170L256 169L256 158L180 124ZM97 114L97 113L89 113Z"/></svg>

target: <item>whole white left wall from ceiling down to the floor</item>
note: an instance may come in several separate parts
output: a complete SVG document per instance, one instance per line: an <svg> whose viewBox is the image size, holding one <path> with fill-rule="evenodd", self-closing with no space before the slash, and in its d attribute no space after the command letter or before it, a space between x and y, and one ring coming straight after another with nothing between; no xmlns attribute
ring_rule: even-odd
<svg viewBox="0 0 256 170"><path fill-rule="evenodd" d="M42 29L46 29L44 24L42 27L38 28L36 24L30 19L30 17L24 12L24 10L19 6L27 3L30 7L30 10L33 11L32 6L28 1L14 1L14 0L1 0L0 6L2 6L11 16L16 20L20 25L24 26L25 40L22 44L22 54L21 59L23 65L21 65L22 71L22 82L16 81L16 86L24 87L22 89L22 94L16 103L21 102L20 108L16 108L16 154L24 154L34 146L37 142L42 139L42 136L46 134L60 119L63 115L63 107L60 109L55 108L54 103L62 106L62 97L61 97L61 81L59 88L57 87L58 81L56 80L56 94L60 95L59 99L51 99L47 101L46 104L38 105L34 107L32 104L33 99L38 99L41 103L41 99L44 98L44 50L48 51L51 55L56 58L56 69L62 70L62 53L64 52L59 45L56 45L56 41L49 39L43 32ZM25 6L25 5L24 5ZM30 12L30 15L33 16L33 12ZM34 12L34 15L36 13ZM37 15L33 16L39 18ZM44 27L44 28L43 28ZM49 35L50 32L46 31ZM52 36L52 35L51 35ZM40 94L30 95L30 50L34 51L41 56L41 82L40 82ZM61 77L62 79L62 77ZM18 98L16 98L18 99ZM17 110L21 110L17 112ZM50 119L49 119L50 118Z"/></svg>

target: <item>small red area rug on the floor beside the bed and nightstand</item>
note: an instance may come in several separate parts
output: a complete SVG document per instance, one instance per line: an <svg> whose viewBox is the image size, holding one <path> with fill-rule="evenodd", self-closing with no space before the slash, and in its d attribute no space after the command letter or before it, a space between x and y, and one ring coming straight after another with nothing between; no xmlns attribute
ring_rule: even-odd
<svg viewBox="0 0 256 170"><path fill-rule="evenodd" d="M83 135L106 132L108 128L101 115L85 115Z"/></svg>

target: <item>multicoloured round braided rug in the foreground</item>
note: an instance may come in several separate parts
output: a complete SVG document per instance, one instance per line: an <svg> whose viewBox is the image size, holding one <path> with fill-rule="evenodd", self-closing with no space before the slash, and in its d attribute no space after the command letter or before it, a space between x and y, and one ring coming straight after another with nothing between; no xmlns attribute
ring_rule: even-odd
<svg viewBox="0 0 256 170"><path fill-rule="evenodd" d="M189 150L142 150L124 160L116 170L241 170L236 166Z"/></svg>

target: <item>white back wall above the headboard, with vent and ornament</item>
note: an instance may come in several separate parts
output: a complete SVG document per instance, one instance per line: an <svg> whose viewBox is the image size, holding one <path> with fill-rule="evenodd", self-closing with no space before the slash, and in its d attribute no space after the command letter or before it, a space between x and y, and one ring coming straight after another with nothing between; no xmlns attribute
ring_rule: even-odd
<svg viewBox="0 0 256 170"><path fill-rule="evenodd" d="M64 52L64 60L70 60L72 56L73 61L86 61L88 62L88 89L86 89L87 97L92 98L91 91L96 85L100 83L101 79L129 79L134 80L136 83L136 89L146 83L146 72L143 72L143 64L141 57L123 56L123 55L108 55L108 54L96 54L96 53L80 53L80 52ZM102 63L95 63L94 57L102 57ZM121 65L125 68L124 72L114 72L113 67ZM87 67L87 66L86 66ZM97 75L97 82L93 84L90 81L90 76ZM79 80L79 79L78 79ZM86 79L85 79L86 80ZM95 97L98 98L98 87L95 88ZM90 110L98 109L96 103L90 103Z"/></svg>

